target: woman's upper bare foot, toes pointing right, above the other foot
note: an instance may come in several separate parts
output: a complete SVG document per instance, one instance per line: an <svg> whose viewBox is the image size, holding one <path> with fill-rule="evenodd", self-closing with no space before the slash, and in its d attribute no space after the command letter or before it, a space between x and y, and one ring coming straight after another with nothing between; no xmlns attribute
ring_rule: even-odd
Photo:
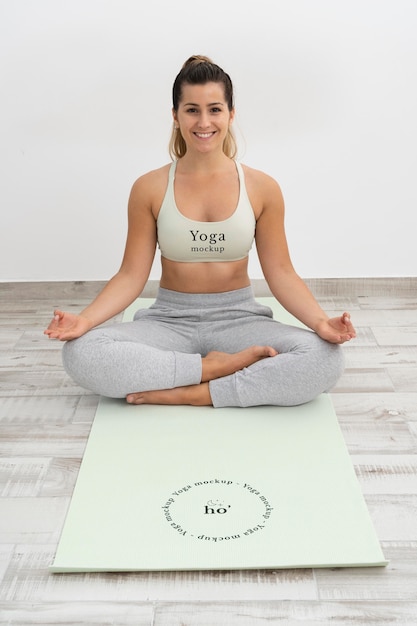
<svg viewBox="0 0 417 626"><path fill-rule="evenodd" d="M234 374L244 367L267 357L276 356L278 352L271 346L251 346L240 352L209 352L202 359L203 371L201 382Z"/></svg>

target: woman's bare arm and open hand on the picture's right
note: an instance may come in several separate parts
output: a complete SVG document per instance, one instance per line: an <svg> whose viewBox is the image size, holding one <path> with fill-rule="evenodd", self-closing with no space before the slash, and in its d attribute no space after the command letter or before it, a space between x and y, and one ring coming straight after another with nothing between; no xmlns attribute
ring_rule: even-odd
<svg viewBox="0 0 417 626"><path fill-rule="evenodd" d="M284 200L279 185L257 173L262 207L256 225L256 247L265 280L275 298L323 339L343 343L355 336L350 315L329 319L291 262L284 227Z"/></svg>

